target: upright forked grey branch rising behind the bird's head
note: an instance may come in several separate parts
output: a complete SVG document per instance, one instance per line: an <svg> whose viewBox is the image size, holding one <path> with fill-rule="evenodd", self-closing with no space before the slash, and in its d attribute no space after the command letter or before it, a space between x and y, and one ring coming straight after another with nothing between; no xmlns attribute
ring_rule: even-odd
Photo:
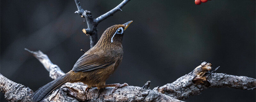
<svg viewBox="0 0 256 102"><path fill-rule="evenodd" d="M90 48L92 48L98 42L97 25L104 19L112 16L117 11L119 10L122 11L121 8L124 7L124 5L127 4L129 1L130 0L124 0L121 4L117 5L114 9L94 19L92 17L92 13L87 10L84 11L84 9L82 9L80 5L79 0L75 0L76 7L77 7L77 11L75 11L75 13L81 15L81 17L84 17L87 23L87 28L83 29L82 31L86 35L90 35Z"/></svg>

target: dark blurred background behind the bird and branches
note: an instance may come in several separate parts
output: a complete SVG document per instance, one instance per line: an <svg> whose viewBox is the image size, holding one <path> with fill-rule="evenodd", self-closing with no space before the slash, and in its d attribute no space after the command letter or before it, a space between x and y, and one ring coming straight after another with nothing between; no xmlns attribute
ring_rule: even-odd
<svg viewBox="0 0 256 102"><path fill-rule="evenodd" d="M96 18L122 0L81 0ZM52 81L24 48L41 50L64 72L89 49L87 25L74 0L1 0L1 74L33 91ZM131 0L98 25L99 37L111 25L133 20L123 39L124 58L107 84L150 88L172 83L201 61L218 73L255 78L255 0ZM255 102L255 90L211 88L188 102ZM5 102L1 93L1 102Z"/></svg>

